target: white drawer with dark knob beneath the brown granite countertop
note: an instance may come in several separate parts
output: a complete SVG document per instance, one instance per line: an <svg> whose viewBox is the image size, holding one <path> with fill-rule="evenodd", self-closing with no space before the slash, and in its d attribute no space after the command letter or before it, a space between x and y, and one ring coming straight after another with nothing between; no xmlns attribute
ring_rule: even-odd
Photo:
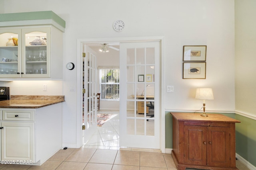
<svg viewBox="0 0 256 170"><path fill-rule="evenodd" d="M35 111L31 110L3 110L3 120L35 121Z"/></svg>

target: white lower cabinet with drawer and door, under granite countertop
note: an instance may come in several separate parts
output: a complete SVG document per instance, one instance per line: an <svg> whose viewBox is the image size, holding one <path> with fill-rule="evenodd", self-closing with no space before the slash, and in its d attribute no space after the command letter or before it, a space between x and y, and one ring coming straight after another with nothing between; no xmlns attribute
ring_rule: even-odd
<svg viewBox="0 0 256 170"><path fill-rule="evenodd" d="M62 147L62 104L0 114L2 161L41 165Z"/></svg>

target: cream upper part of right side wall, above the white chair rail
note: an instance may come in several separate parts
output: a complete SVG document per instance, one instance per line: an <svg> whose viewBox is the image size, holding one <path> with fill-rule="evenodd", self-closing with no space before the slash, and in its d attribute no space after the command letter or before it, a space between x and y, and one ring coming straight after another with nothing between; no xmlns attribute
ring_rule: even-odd
<svg viewBox="0 0 256 170"><path fill-rule="evenodd" d="M256 1L236 0L236 111L256 116Z"/></svg>

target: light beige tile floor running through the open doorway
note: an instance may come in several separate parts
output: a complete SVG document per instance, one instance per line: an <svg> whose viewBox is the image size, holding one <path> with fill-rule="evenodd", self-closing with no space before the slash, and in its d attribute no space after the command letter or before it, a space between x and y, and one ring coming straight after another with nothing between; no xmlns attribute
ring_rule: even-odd
<svg viewBox="0 0 256 170"><path fill-rule="evenodd" d="M112 113L117 112L112 111ZM0 164L0 169L176 170L171 154L163 154L160 150L154 149L120 148L118 116L105 124L98 128L98 134L90 140L90 143L79 149L61 149L41 166ZM239 170L249 170L238 160L236 166Z"/></svg>

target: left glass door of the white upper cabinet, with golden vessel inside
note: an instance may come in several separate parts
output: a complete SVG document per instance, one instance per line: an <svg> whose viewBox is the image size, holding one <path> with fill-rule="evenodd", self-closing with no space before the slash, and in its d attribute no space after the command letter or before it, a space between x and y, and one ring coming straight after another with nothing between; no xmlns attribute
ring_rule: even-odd
<svg viewBox="0 0 256 170"><path fill-rule="evenodd" d="M0 29L0 78L21 77L21 29Z"/></svg>

